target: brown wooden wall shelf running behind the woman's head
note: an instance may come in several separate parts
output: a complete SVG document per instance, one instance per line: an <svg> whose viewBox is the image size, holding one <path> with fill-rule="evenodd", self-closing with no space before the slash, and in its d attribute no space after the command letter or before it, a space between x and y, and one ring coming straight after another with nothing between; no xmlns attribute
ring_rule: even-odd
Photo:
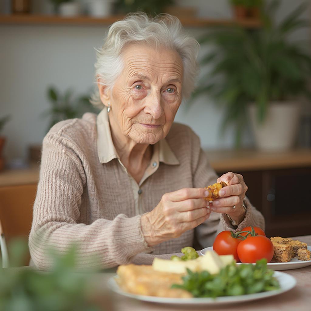
<svg viewBox="0 0 311 311"><path fill-rule="evenodd" d="M77 25L96 26L111 25L115 21L121 20L124 15L114 15L105 18L95 18L90 16L63 17L58 15L0 15L2 25ZM207 27L207 26L232 26L240 25L247 28L260 27L259 20L253 19L204 19L192 17L179 18L183 26L187 27Z"/></svg>

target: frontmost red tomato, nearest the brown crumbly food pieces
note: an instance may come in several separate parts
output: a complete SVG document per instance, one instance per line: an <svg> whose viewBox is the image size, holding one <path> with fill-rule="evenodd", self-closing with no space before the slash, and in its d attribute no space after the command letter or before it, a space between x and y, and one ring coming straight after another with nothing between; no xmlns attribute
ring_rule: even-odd
<svg viewBox="0 0 311 311"><path fill-rule="evenodd" d="M254 263L262 258L266 258L267 262L270 262L274 247L270 239L263 235L256 235L239 243L237 251L241 262Z"/></svg>

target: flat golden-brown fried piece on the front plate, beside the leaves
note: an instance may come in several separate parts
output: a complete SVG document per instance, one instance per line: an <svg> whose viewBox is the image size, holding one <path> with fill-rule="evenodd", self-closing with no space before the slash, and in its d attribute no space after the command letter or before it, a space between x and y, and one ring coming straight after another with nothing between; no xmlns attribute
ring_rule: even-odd
<svg viewBox="0 0 311 311"><path fill-rule="evenodd" d="M118 285L122 290L136 294L156 297L191 298L192 295L182 289L171 288L172 284L181 284L184 274L159 272L146 265L122 265L117 269Z"/></svg>

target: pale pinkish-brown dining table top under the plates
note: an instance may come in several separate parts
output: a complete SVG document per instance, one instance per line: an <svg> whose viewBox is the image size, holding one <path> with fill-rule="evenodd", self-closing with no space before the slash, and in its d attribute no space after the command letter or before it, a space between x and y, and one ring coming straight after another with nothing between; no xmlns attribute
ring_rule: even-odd
<svg viewBox="0 0 311 311"><path fill-rule="evenodd" d="M311 229L311 228L310 228ZM311 235L296 236L292 239L311 245ZM181 256L182 253L177 255ZM155 255L156 257L169 259L171 254ZM155 256L142 254L133 259L137 264L152 263ZM7 268L13 270L33 269L35 267ZM192 310L219 310L219 311L311 311L311 265L291 270L283 270L293 276L297 283L294 288L279 295L251 300L246 302L234 302L230 304L163 304L145 302L120 295L109 287L109 280L116 276L116 268L106 269L91 275L92 286L95 285L97 305L103 311L192 311ZM46 272L43 272L46 273ZM47 272L48 273L48 272ZM182 299L182 298L180 298Z"/></svg>

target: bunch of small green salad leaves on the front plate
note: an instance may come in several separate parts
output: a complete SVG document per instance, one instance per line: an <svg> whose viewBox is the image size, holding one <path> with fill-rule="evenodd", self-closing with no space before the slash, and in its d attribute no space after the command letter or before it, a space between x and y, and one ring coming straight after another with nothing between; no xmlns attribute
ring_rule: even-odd
<svg viewBox="0 0 311 311"><path fill-rule="evenodd" d="M220 297L247 295L280 288L273 270L267 268L267 260L261 259L256 265L235 262L222 268L218 274L207 271L192 272L183 276L183 284L173 284L172 288L188 290L193 297Z"/></svg>

